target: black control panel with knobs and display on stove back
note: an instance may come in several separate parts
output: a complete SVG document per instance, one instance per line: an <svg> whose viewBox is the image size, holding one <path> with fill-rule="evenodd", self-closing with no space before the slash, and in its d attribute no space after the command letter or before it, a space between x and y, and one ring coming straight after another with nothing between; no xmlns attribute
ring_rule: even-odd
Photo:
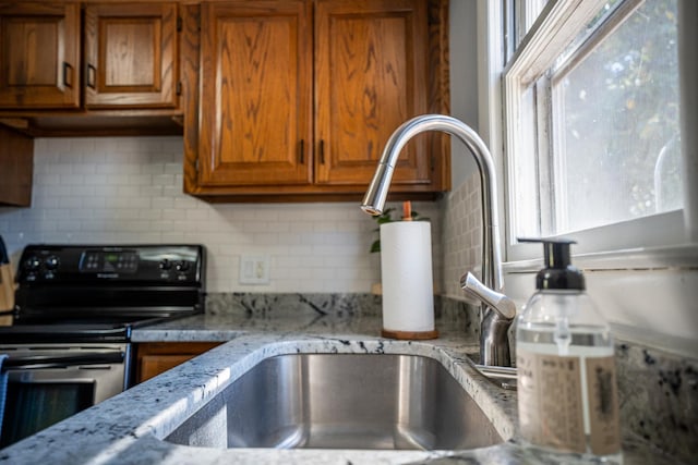
<svg viewBox="0 0 698 465"><path fill-rule="evenodd" d="M167 283L203 282L202 245L27 245L17 282L29 283Z"/></svg>

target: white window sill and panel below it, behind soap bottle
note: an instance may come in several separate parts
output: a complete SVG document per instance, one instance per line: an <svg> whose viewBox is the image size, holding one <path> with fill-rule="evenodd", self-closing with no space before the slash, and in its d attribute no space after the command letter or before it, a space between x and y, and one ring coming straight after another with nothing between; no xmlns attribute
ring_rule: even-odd
<svg viewBox="0 0 698 465"><path fill-rule="evenodd" d="M587 293L618 340L698 359L698 245L578 254ZM505 294L522 308L542 259L504 264Z"/></svg>

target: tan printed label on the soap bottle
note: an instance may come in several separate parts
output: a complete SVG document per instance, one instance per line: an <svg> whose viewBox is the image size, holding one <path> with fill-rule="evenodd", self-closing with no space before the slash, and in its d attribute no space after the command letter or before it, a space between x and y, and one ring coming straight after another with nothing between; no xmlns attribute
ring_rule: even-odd
<svg viewBox="0 0 698 465"><path fill-rule="evenodd" d="M525 440L564 452L617 453L615 364L517 350L518 405ZM587 418L585 418L587 417Z"/></svg>

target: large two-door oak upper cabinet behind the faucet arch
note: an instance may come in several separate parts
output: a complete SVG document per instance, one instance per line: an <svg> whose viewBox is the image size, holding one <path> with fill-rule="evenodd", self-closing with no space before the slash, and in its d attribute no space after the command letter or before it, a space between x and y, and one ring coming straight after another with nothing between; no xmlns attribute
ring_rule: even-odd
<svg viewBox="0 0 698 465"><path fill-rule="evenodd" d="M200 124L185 144L185 191L232 200L360 198L393 131L447 111L429 57L431 44L445 47L445 33L431 30L447 26L430 14L442 3L202 3ZM408 145L392 191L448 188L447 149L434 147L445 146L421 136Z"/></svg>

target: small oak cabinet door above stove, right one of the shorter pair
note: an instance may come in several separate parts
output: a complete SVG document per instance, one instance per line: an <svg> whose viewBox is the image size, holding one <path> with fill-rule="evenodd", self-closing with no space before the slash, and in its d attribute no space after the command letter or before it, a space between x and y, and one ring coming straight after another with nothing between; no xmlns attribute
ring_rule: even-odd
<svg viewBox="0 0 698 465"><path fill-rule="evenodd" d="M177 3L85 8L85 105L176 108Z"/></svg>

